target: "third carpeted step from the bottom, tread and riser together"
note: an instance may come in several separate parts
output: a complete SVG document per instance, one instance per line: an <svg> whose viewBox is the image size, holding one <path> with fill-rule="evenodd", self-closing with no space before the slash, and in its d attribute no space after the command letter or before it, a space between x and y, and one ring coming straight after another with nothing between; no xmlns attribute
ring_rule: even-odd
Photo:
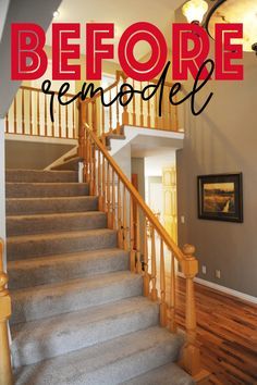
<svg viewBox="0 0 257 385"><path fill-rule="evenodd" d="M36 363L157 325L159 306L133 297L12 327L14 367Z"/></svg>

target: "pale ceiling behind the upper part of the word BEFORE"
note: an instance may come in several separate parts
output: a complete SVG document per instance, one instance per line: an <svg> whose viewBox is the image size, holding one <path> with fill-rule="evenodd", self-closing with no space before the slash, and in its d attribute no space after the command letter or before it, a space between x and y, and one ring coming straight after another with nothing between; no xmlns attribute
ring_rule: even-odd
<svg viewBox="0 0 257 385"><path fill-rule="evenodd" d="M81 23L81 36L85 36L85 24L89 22L108 22L115 25L114 50L123 30L135 22L150 22L166 36L168 45L171 42L171 24L174 11L185 0L63 0L54 23ZM47 45L51 46L51 27L47 34ZM81 50L85 53L85 40L81 39ZM145 57L149 51L147 44L135 47L137 59ZM118 61L115 53L114 61Z"/></svg>

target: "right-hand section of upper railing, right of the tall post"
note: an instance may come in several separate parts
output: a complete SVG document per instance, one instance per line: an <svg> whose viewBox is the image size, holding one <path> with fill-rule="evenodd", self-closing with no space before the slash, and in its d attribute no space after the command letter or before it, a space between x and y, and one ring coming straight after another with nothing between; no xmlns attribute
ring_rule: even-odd
<svg viewBox="0 0 257 385"><path fill-rule="evenodd" d="M145 87L157 85L158 79L136 82L127 77L124 72L117 71L115 82L103 89L103 98L107 103L113 100L113 97L118 95L122 84L127 85L125 90L127 90L128 87L133 87L133 89L142 91ZM145 101L143 101L139 95L134 95L131 103L124 107L120 105L119 100L114 101L110 107L103 107L100 102L100 92L98 92L95 97L88 98L79 103L79 121L93 127L93 131L97 133L98 136L120 134L121 127L124 125L178 132L178 108L171 105L169 102L169 92L172 86L171 83L164 82L162 116L159 116L158 112L159 91L157 91L152 98ZM148 88L145 96L149 94L150 89ZM126 100L126 96L123 97L123 100Z"/></svg>

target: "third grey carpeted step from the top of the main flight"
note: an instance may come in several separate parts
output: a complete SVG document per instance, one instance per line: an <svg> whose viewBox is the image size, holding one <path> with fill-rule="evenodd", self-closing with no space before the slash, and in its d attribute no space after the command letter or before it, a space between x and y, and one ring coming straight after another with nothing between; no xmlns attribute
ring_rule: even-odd
<svg viewBox="0 0 257 385"><path fill-rule="evenodd" d="M97 197L52 197L7 199L7 215L83 212L98 209Z"/></svg>

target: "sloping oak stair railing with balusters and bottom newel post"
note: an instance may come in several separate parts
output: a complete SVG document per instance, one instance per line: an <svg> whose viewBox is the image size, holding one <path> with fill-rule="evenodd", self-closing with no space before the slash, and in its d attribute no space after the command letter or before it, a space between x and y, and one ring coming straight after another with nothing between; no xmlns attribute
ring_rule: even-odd
<svg viewBox="0 0 257 385"><path fill-rule="evenodd" d="M144 295L160 301L160 324L176 330L175 261L186 280L183 365L193 376L200 372L196 346L194 277L198 262L194 246L181 250L138 191L109 154L96 133L85 128L84 178L90 195L99 197L99 210L107 213L108 227L117 229L118 245L130 252L130 269L143 274ZM170 271L168 280L167 271Z"/></svg>

